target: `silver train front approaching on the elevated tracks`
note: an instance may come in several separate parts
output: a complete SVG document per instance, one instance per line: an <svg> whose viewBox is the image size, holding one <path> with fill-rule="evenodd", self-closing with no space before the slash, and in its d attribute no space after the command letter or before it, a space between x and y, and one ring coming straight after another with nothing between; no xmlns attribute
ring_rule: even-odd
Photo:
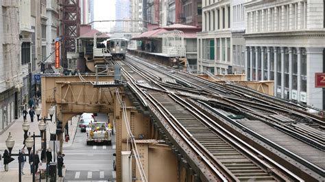
<svg viewBox="0 0 325 182"><path fill-rule="evenodd" d="M110 51L113 60L125 59L128 41L126 38L110 38L106 41L106 48Z"/></svg>

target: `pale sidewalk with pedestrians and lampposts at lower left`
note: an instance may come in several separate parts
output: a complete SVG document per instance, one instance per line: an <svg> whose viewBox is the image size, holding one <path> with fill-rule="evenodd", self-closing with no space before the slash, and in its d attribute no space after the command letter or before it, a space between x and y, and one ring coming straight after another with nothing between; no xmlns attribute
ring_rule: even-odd
<svg viewBox="0 0 325 182"><path fill-rule="evenodd" d="M40 135L40 131L38 129L38 122L37 122L37 116L35 116L34 118L34 122L30 122L30 116L27 115L27 121L29 122L29 131L31 133L31 135L33 134L33 132L35 132L36 135ZM52 122L47 121L47 147L49 147L49 136L50 133L56 133L56 123L55 121L55 117L53 116ZM74 116L72 118L72 125L71 125L71 121L69 121L68 125L69 125L69 136L70 136L70 140L69 142L65 142L63 143L63 153L64 153L64 148L65 147L69 147L72 145L73 140L75 138L75 131L77 130L77 122L78 122L78 117ZM9 132L12 135L12 139L14 140L14 148L12 148L12 153L19 153L19 150L21 148L23 148L23 135L24 135L24 131L23 131L23 116L21 116L21 118L17 119L14 123L12 123L12 125L6 130L3 131L0 135L0 154L1 156L3 155L3 151L5 149L7 149L7 146L5 146L5 140L7 140ZM35 148L36 150L40 150L41 148L41 144L40 144L40 138L36 138L35 139ZM25 148L25 151L27 152L27 148ZM40 151L38 152L39 156L40 156ZM16 160L16 158L15 158ZM14 160L14 161L15 161ZM9 164L9 171L5 172L4 168L3 168L3 159L1 158L0 160L0 181L13 181L16 182L19 179L19 169L18 169L18 164L16 164L16 166L14 166L15 164L14 161L12 161L12 163ZM18 161L17 161L18 163ZM27 167L26 167L27 166ZM23 169L25 175L22 175L22 181L32 181L32 174L30 174L30 170L29 170L29 163L28 163L28 157L27 157L27 161L25 162L25 168ZM65 168L62 170L63 176L65 174ZM63 178L59 178L57 181L63 181Z"/></svg>

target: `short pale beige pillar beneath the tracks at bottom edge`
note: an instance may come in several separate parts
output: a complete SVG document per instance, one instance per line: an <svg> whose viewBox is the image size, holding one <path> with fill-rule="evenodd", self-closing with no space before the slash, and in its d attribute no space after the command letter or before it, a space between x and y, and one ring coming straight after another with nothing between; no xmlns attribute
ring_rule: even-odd
<svg viewBox="0 0 325 182"><path fill-rule="evenodd" d="M121 151L122 155L122 181L132 182L132 157L131 151Z"/></svg>

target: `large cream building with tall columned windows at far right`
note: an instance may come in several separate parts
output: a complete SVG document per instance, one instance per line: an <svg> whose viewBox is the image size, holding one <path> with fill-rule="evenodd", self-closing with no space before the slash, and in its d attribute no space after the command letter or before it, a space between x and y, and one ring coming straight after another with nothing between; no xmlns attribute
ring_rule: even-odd
<svg viewBox="0 0 325 182"><path fill-rule="evenodd" d="M276 96L325 109L315 88L325 70L324 1L252 1L245 16L247 79L274 80Z"/></svg>

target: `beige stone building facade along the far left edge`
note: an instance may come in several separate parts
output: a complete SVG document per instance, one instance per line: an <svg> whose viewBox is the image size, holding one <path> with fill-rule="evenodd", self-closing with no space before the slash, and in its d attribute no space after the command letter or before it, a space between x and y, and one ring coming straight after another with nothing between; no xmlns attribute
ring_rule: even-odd
<svg viewBox="0 0 325 182"><path fill-rule="evenodd" d="M23 100L22 92L27 92L27 89L22 89L23 75L26 73L21 71L20 51L23 44L20 38L24 37L19 36L21 33L20 3L21 1L0 1L2 6L0 9L2 16L0 18L0 130L19 118Z"/></svg>

